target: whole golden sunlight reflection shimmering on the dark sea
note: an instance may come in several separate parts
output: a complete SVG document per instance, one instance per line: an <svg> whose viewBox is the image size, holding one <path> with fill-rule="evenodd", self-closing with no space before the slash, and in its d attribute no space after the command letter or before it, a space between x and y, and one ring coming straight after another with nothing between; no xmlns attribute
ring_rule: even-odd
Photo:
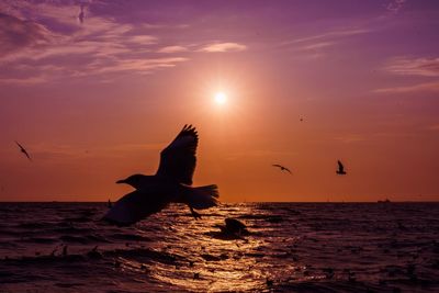
<svg viewBox="0 0 439 293"><path fill-rule="evenodd" d="M168 214L169 213L169 214ZM280 241L280 235L273 227L249 225L251 235L248 237L229 238L219 232L219 226L227 217L249 216L252 219L252 209L245 205L211 209L201 221L190 216L173 218L173 212L165 211L161 218L173 221L169 226L169 238L157 249L181 256L184 261L176 266L159 264L151 268L150 274L160 282L184 288L191 291L254 291L267 289L267 280L296 275L303 270L299 263L286 264L284 261L266 262L272 258L273 245ZM259 211L256 221L271 218L270 214ZM275 221L275 218L273 218ZM153 221L153 219L151 219ZM156 221L156 219L154 219ZM241 219L247 222L246 219ZM148 225L145 222L143 225ZM142 225L138 227L142 230ZM264 235L266 237L259 237ZM288 237L284 245L296 241L300 237ZM282 250L282 247L278 247ZM286 255L285 255L286 257ZM139 267L137 263L135 267ZM282 274L280 274L282 272ZM304 277L308 278L308 277ZM311 277L308 279L313 279Z"/></svg>

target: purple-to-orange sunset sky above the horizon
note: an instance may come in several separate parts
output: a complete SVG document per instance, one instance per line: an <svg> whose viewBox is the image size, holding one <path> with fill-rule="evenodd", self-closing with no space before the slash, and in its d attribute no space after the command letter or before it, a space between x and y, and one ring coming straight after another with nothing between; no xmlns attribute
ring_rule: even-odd
<svg viewBox="0 0 439 293"><path fill-rule="evenodd" d="M438 31L428 0L1 1L0 201L115 201L184 124L223 202L438 201Z"/></svg>

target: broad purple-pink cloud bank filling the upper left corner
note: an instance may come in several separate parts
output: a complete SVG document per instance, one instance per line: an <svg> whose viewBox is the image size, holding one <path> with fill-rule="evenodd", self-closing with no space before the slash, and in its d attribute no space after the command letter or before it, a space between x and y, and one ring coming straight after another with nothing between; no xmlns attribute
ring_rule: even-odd
<svg viewBox="0 0 439 293"><path fill-rule="evenodd" d="M108 80L108 75L150 74L188 60L176 56L183 52L179 46L168 46L170 56L157 58L154 54L160 38L147 33L150 27L139 30L94 15L88 9L90 3L2 2L1 11L10 14L0 13L0 65L13 74L0 69L0 82L31 84L87 75ZM85 14L78 21L81 11Z"/></svg>

